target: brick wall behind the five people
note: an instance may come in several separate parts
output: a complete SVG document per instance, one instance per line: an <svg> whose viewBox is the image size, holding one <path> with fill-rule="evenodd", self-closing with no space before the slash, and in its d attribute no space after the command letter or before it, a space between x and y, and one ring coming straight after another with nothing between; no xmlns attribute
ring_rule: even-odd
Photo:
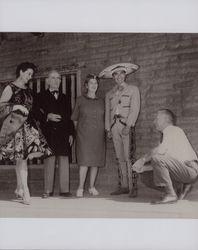
<svg viewBox="0 0 198 250"><path fill-rule="evenodd" d="M178 125L187 133L198 152L198 35L197 34L97 34L4 33L0 38L0 80L14 78L16 65L32 61L41 71L84 65L82 80L87 73L99 73L118 62L140 65L127 81L140 88L141 113L136 126L137 157L157 143L153 128L157 109L172 109ZM112 80L102 80L99 95L113 86ZM107 166L101 170L99 183L116 184L115 154L107 144Z"/></svg>

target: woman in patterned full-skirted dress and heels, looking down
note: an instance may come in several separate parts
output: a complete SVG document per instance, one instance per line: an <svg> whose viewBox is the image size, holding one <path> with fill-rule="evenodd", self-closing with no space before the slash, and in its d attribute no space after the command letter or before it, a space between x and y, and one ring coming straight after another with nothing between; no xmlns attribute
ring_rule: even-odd
<svg viewBox="0 0 198 250"><path fill-rule="evenodd" d="M32 117L33 97L27 84L35 69L29 62L18 65L16 80L5 87L0 98L0 155L16 164L15 193L26 205L30 204L27 160L51 154Z"/></svg>

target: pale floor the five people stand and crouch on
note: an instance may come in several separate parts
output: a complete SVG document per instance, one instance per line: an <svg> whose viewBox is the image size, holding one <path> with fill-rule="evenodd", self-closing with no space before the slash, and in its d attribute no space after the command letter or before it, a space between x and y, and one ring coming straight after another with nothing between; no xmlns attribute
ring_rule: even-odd
<svg viewBox="0 0 198 250"><path fill-rule="evenodd" d="M31 205L23 205L12 193L0 193L1 218L198 218L197 189L193 189L186 200L175 204L152 205L160 192L140 187L137 198L128 195L111 196L110 191L99 190L102 195L83 198L59 196L42 199L31 198Z"/></svg>

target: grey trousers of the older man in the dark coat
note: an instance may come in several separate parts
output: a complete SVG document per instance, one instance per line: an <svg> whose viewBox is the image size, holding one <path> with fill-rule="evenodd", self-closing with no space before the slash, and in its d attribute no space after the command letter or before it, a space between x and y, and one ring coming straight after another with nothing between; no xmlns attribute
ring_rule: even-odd
<svg viewBox="0 0 198 250"><path fill-rule="evenodd" d="M59 168L59 192L69 192L69 159L67 156L51 156L44 161L44 191L54 190L55 167Z"/></svg>

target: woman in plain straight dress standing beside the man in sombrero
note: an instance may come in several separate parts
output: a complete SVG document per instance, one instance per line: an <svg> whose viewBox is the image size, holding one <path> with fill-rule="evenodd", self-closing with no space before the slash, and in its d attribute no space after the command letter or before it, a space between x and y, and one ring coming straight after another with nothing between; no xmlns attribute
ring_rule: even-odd
<svg viewBox="0 0 198 250"><path fill-rule="evenodd" d="M105 164L104 101L96 96L99 78L88 75L85 80L87 93L80 96L71 119L77 131L77 162L80 166L80 183L77 197L83 197L87 170L90 168L91 195L98 195L95 180L98 168Z"/></svg>

